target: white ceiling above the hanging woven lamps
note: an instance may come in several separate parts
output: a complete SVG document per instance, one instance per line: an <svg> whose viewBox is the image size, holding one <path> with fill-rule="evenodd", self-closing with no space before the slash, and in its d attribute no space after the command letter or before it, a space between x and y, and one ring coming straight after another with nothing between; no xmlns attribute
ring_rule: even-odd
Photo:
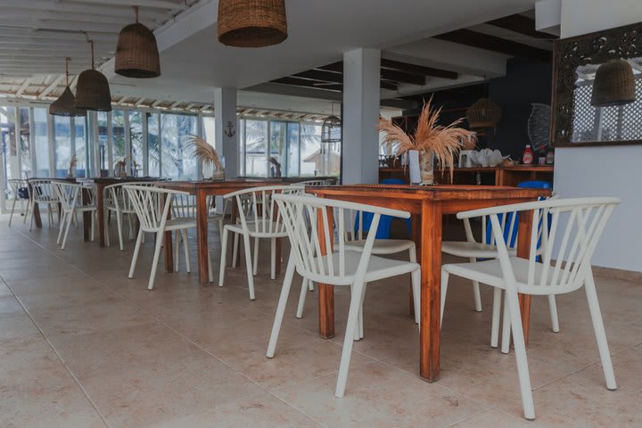
<svg viewBox="0 0 642 428"><path fill-rule="evenodd" d="M211 103L214 87L249 88L331 62L358 47L383 50L383 56L456 70L461 81L433 78L426 87L399 87L383 97L461 84L501 75L506 56L426 40L452 29L524 12L534 0L286 0L289 37L281 45L259 49L226 47L217 40L218 0L0 0L0 79L34 76L40 89L62 91L64 56L72 70L88 67L86 29L97 42L96 58L112 56L119 29L133 21L129 5L139 4L141 21L155 29L161 50L161 78L129 79L113 73L113 61L101 70L114 97L146 97L185 103ZM40 30L37 30L40 29ZM42 29L56 29L44 32ZM24 52L16 53L16 47ZM46 53L49 52L47 55ZM56 78L59 80L54 85ZM0 82L2 86L2 82ZM21 86L21 85L20 85ZM12 86L17 91L20 86ZM28 85L29 86L29 85ZM26 91L27 86L23 89ZM301 97L240 93L241 105L284 104L309 111L328 104ZM325 104L324 104L325 103ZM328 104L329 106L329 104ZM290 110L290 109L283 109Z"/></svg>

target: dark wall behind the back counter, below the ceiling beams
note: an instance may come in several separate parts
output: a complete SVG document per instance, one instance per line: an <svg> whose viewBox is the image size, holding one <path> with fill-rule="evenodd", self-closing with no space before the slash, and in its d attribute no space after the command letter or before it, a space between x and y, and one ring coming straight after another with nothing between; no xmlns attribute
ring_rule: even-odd
<svg viewBox="0 0 642 428"><path fill-rule="evenodd" d="M513 58L506 63L506 76L493 78L487 85L452 88L434 94L408 97L422 103L433 96L433 104L442 107L440 123L448 125L453 120L465 117L465 110L479 98L490 99L502 108L502 119L497 133L488 129L487 136L480 138L480 148L499 149L503 154L521 159L526 144L530 144L527 122L531 116L531 103L550 105L551 64L522 58ZM404 111L404 116L419 114L420 109ZM467 121L462 123L468 127Z"/></svg>

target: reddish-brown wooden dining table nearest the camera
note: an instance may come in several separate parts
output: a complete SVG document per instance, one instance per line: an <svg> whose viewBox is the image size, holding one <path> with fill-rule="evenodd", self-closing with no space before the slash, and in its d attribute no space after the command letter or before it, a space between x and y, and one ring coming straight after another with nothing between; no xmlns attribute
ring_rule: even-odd
<svg viewBox="0 0 642 428"><path fill-rule="evenodd" d="M419 372L428 382L440 374L440 275L442 217L460 211L488 208L518 202L536 201L548 196L547 189L525 189L486 185L335 185L306 187L320 198L406 210L412 214L412 234L417 259L422 268ZM528 258L532 212L523 212L518 226L518 257ZM318 233L323 234L320 230ZM320 237L320 239L323 239ZM319 284L319 333L334 336L333 286ZM521 296L524 336L528 338L531 313L529 296Z"/></svg>

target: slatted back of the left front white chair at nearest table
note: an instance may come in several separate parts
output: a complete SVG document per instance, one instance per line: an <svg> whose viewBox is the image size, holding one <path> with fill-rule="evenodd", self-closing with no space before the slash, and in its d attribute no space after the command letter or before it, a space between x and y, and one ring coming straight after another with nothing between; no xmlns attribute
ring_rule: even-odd
<svg viewBox="0 0 642 428"><path fill-rule="evenodd" d="M358 276L363 279L381 216L410 217L407 211L305 195L276 194L274 199L284 218L297 272L306 279L323 284L347 285L353 284ZM366 237L363 251L346 250L346 215L350 211L373 215L371 233ZM337 224L336 237L333 234L333 218ZM309 227L308 219L312 227ZM318 230L323 231L321 238ZM320 256L324 253L325 256ZM350 264L348 257L358 259L356 271L346 270L347 264Z"/></svg>

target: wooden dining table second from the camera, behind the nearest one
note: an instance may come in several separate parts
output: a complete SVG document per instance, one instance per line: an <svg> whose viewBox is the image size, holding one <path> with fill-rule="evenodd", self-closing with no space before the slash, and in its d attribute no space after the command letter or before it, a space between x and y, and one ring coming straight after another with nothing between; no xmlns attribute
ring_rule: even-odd
<svg viewBox="0 0 642 428"><path fill-rule="evenodd" d="M305 178L300 179L305 180ZM210 207L207 206L207 197L222 196L227 193L234 193L243 189L250 189L251 187L259 187L264 185L286 185L295 181L284 182L281 179L229 179L223 181L167 181L160 182L157 185L170 190L178 190L187 192L196 196L196 236L197 236L197 249L198 249L198 272L199 281L202 285L208 284L208 251L210 247L208 244L208 213ZM232 205L233 221L235 220L235 212L237 212L236 204ZM165 235L165 269L168 272L173 271L173 253L172 253L172 239L171 232ZM276 240L276 273L280 272L281 268L281 239Z"/></svg>

